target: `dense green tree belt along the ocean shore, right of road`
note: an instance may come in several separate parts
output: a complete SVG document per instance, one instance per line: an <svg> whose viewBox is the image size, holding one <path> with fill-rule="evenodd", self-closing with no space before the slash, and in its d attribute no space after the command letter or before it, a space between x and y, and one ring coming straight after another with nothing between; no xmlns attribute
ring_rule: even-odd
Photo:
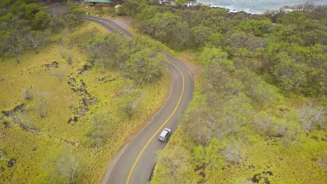
<svg viewBox="0 0 327 184"><path fill-rule="evenodd" d="M141 33L173 49L222 47L235 69L247 67L264 75L285 94L317 95L326 93L326 6L310 5L252 16L135 1L126 1L125 8Z"/></svg>

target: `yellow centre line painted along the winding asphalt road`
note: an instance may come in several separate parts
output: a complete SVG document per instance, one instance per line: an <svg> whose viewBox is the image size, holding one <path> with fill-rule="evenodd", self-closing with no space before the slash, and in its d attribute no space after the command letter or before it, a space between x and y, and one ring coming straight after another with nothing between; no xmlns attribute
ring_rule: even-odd
<svg viewBox="0 0 327 184"><path fill-rule="evenodd" d="M98 20L98 19L94 19L94 18L91 18L91 17L87 17L87 18L92 19L92 20ZM104 23L112 26L112 24L109 24L108 22L105 22L103 20L98 20L98 21L104 22ZM112 28L114 28L115 30L117 30L119 33L122 33L122 31L119 31L117 28L115 28L115 26L112 26ZM125 36L126 38L129 38L124 33L122 33L122 35ZM180 102L182 101L182 97L184 95L185 78L184 78L184 75L183 75L182 71L180 70L180 68L178 68L175 65L175 63L169 61L168 59L166 59L166 61L168 61L169 63L171 63L173 66L175 66L175 68L177 68L178 72L180 72L180 75L182 76L182 92L180 93L180 98L178 99L178 102L177 102L177 105L176 105L174 111L170 114L170 116L167 118L167 120L160 126L160 128L157 130L157 132L155 132L154 135L152 135L152 137L150 138L150 140L147 141L147 144L145 144L145 146L143 146L142 151L140 151L140 153L138 154L138 157L136 158L135 162L133 163L133 166L131 167L131 171L129 171L129 176L126 179L126 183L125 184L129 184L129 181L131 180L131 175L133 174L133 170L136 167L136 164L138 163L138 160L140 160L140 157L143 155L143 152L145 151L145 149L147 148L147 146L149 146L150 142L154 139L154 137L156 137L156 135L159 133L159 131L163 128L163 126L168 123L168 121L170 120L170 118L173 117L173 115L177 111L178 107L180 106Z"/></svg>

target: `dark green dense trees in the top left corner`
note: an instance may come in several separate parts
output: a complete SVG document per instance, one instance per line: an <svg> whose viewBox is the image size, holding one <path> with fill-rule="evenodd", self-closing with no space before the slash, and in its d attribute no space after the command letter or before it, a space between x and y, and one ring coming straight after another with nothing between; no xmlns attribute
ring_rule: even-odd
<svg viewBox="0 0 327 184"><path fill-rule="evenodd" d="M68 13L51 15L37 0L8 0L0 3L0 56L19 56L26 50L38 54L49 33L81 23L82 11L69 3Z"/></svg>

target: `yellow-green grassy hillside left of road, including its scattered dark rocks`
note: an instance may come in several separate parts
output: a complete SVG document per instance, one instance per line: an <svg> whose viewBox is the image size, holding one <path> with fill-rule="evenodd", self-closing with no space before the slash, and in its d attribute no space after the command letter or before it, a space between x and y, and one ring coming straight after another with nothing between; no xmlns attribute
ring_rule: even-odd
<svg viewBox="0 0 327 184"><path fill-rule="evenodd" d="M94 29L94 27L96 29ZM169 75L137 86L136 109L122 113L133 81L103 68L69 38L107 31L85 22L48 38L38 54L27 51L0 62L0 183L99 183L112 156L163 104ZM88 144L95 118L110 119L110 132ZM103 129L106 131L106 128ZM99 137L97 137L99 138ZM91 144L92 145L92 144Z"/></svg>

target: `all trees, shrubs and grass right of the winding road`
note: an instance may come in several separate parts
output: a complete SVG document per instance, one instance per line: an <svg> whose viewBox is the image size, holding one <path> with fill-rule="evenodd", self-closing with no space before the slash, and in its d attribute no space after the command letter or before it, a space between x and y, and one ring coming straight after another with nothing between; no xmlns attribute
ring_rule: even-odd
<svg viewBox="0 0 327 184"><path fill-rule="evenodd" d="M326 181L327 7L286 8L124 2L140 33L203 66L151 183Z"/></svg>

